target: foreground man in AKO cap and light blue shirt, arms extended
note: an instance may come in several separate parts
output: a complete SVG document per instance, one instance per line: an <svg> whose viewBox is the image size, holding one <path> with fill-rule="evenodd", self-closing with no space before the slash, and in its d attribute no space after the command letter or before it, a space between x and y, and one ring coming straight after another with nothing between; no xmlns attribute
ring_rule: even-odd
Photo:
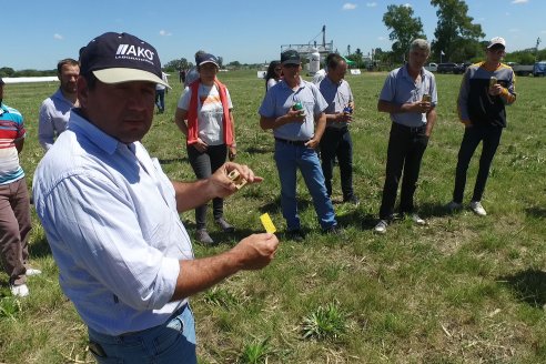
<svg viewBox="0 0 546 364"><path fill-rule="evenodd" d="M249 183L262 179L235 163L194 183L168 179L140 142L152 123L155 84L164 84L152 46L109 32L82 50L80 62L81 108L33 181L61 287L88 325L99 363L196 363L188 297L265 266L279 241L255 234L194 260L179 212L234 193L233 170Z"/></svg>

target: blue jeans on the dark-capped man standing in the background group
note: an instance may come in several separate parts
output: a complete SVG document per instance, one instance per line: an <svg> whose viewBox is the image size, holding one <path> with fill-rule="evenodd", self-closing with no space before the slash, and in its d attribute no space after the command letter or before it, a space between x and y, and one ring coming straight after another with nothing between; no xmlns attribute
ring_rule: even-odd
<svg viewBox="0 0 546 364"><path fill-rule="evenodd" d="M324 185L324 174L314 149L275 141L275 162L281 180L281 206L289 231L301 229L296 201L296 171L302 172L313 198L321 228L337 225L334 206Z"/></svg>

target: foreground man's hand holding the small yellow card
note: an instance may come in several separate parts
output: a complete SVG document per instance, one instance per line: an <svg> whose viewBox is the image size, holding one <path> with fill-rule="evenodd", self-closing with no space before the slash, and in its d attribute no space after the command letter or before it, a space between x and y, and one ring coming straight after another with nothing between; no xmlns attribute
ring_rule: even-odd
<svg viewBox="0 0 546 364"><path fill-rule="evenodd" d="M243 239L228 254L239 263L240 270L259 270L275 256L279 239L274 234L253 234Z"/></svg>

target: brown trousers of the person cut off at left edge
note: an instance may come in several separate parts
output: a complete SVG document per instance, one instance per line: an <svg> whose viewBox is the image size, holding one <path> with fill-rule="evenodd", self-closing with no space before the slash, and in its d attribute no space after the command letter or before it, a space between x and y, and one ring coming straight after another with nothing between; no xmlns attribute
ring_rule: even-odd
<svg viewBox="0 0 546 364"><path fill-rule="evenodd" d="M31 229L30 201L24 179L0 184L0 251L10 284L27 282L28 237Z"/></svg>

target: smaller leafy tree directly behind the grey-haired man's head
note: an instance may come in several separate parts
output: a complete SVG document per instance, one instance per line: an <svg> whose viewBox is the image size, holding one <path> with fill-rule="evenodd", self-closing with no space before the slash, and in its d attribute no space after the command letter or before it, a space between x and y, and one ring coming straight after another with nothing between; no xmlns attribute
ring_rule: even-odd
<svg viewBox="0 0 546 364"><path fill-rule="evenodd" d="M423 22L421 18L413 17L413 9L410 6L388 6L387 12L383 16L383 22L391 30L388 39L394 41L394 58L400 61L405 60L412 40L425 38Z"/></svg>

